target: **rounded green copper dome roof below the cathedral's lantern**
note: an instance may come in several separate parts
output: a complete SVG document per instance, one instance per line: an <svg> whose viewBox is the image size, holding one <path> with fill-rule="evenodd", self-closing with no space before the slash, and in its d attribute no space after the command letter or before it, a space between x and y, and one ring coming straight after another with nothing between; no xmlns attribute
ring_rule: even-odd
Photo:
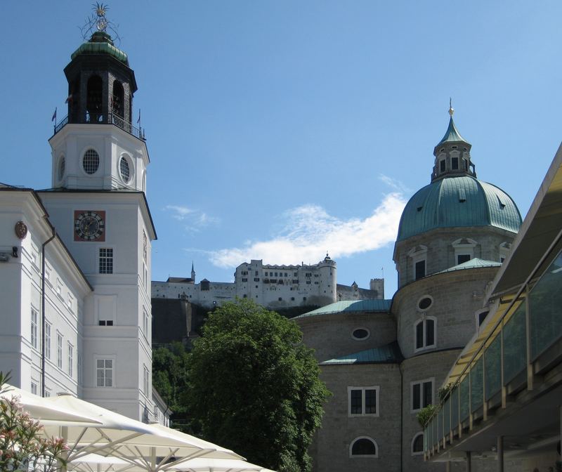
<svg viewBox="0 0 562 472"><path fill-rule="evenodd" d="M495 226L517 232L521 214L509 195L471 176L442 178L418 190L400 218L397 241L435 228Z"/></svg>

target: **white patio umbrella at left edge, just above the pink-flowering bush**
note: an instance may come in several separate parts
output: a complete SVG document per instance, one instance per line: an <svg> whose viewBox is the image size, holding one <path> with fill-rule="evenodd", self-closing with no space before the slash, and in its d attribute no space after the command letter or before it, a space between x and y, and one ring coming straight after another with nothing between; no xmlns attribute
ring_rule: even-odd
<svg viewBox="0 0 562 472"><path fill-rule="evenodd" d="M1 389L3 392L0 393L0 400L11 400L11 398L15 397L18 403L22 405L24 411L43 425L66 424L67 426L76 426L80 424L94 426L100 424L100 421L88 417L81 412L71 411L60 405L52 405L51 403L45 402L44 398L23 391L10 384L4 384L1 386Z"/></svg>

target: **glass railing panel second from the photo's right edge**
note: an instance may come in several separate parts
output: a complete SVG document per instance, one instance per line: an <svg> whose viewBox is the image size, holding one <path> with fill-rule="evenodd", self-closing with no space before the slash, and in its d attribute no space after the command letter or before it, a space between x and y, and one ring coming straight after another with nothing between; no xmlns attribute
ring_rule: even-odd
<svg viewBox="0 0 562 472"><path fill-rule="evenodd" d="M527 365L524 300L504 325L503 336L504 385L507 385Z"/></svg>

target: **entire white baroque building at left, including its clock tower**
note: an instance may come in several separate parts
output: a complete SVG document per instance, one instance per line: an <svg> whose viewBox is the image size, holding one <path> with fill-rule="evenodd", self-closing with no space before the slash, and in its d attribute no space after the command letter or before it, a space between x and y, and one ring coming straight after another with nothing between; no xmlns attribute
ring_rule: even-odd
<svg viewBox="0 0 562 472"><path fill-rule="evenodd" d="M152 392L156 232L148 150L131 124L135 75L98 31L65 76L68 116L49 139L51 188L0 186L0 371L25 391L70 392L166 423Z"/></svg>

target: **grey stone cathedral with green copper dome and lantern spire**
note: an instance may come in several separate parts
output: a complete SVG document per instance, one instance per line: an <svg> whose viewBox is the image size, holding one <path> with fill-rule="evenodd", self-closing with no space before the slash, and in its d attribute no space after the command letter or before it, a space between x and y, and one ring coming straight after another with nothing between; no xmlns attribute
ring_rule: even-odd
<svg viewBox="0 0 562 472"><path fill-rule="evenodd" d="M295 318L333 393L311 451L316 471L445 470L424 461L417 413L438 402L485 320L486 289L521 226L511 197L476 178L452 113L431 182L400 219L393 298L338 301Z"/></svg>

